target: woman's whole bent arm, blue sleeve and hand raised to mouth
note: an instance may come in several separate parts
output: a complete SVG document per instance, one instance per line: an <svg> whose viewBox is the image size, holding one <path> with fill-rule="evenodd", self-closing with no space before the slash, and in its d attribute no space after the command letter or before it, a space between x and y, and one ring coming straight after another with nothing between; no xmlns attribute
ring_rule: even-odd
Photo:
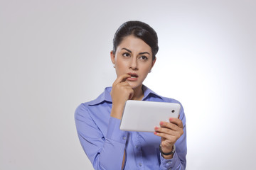
<svg viewBox="0 0 256 170"><path fill-rule="evenodd" d="M132 87L125 82L128 77L130 77L128 74L117 77L112 86L112 110L106 137L91 118L87 106L80 105L75 112L80 143L95 169L124 168L127 132L119 130L119 125L124 104L133 96Z"/></svg>

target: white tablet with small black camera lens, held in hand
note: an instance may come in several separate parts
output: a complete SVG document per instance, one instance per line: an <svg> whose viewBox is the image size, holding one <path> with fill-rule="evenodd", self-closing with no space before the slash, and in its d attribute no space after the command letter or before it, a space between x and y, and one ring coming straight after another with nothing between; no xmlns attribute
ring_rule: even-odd
<svg viewBox="0 0 256 170"><path fill-rule="evenodd" d="M169 118L178 118L181 105L156 101L132 101L125 103L120 130L154 132L154 127Z"/></svg>

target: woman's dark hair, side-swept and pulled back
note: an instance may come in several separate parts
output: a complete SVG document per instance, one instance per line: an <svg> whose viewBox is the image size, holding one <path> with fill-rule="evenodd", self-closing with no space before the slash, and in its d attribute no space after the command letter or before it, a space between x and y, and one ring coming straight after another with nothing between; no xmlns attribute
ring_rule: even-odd
<svg viewBox="0 0 256 170"><path fill-rule="evenodd" d="M159 50L156 31L151 28L151 26L141 21L127 21L117 29L113 39L114 53L117 50L117 46L129 35L134 35L134 37L140 38L146 42L146 44L151 47L153 61L156 59L156 53Z"/></svg>

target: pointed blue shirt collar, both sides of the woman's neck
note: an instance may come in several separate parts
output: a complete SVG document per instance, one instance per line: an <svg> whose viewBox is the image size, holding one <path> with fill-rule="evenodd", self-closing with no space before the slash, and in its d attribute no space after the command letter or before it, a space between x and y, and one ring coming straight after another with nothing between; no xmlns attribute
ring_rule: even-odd
<svg viewBox="0 0 256 170"><path fill-rule="evenodd" d="M106 87L105 91L102 94L100 94L100 96L98 96L95 100L90 101L88 104L90 106L93 106L93 105L100 104L103 101L112 103L112 98L110 95L111 89L112 89L112 87ZM149 89L147 86L142 85L142 90L144 91L144 97L142 98L142 101L146 101L146 98L149 98L151 96L163 99L161 96L156 94L154 91L151 91L151 89Z"/></svg>

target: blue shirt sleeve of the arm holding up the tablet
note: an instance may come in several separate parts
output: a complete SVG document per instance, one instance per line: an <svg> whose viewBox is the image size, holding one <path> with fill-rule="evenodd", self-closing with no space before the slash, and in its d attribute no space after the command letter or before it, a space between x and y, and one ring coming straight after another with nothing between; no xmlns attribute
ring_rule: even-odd
<svg viewBox="0 0 256 170"><path fill-rule="evenodd" d="M183 123L183 135L176 141L176 152L172 159L164 159L161 157L160 169L171 169L171 170L185 170L186 169L186 154L187 154L187 145L186 145L186 118L181 107L180 118Z"/></svg>

